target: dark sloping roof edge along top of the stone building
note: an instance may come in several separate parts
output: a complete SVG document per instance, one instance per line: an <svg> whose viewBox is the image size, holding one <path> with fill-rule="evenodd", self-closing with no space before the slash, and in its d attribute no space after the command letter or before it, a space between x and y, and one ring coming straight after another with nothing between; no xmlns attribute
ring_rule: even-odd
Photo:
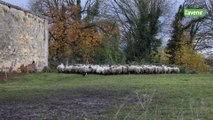
<svg viewBox="0 0 213 120"><path fill-rule="evenodd" d="M4 1L2 1L2 0L0 0L0 4L6 5L6 6L8 6L8 7L15 8L15 9L20 10L20 11L23 11L23 12L30 13L30 14L35 15L35 16L37 16L37 17L40 17L40 18L42 18L42 19L46 19L46 18L45 18L44 16L42 16L42 15L35 14L35 13L29 11L29 10L26 10L26 9L21 8L21 7L19 7L19 6L16 6L16 5L12 5L12 4L7 3L7 2L4 2Z"/></svg>

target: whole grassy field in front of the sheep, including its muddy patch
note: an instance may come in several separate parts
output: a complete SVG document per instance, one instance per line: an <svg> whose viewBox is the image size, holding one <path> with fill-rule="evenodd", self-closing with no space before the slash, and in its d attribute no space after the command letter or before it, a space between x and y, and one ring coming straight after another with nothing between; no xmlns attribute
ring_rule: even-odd
<svg viewBox="0 0 213 120"><path fill-rule="evenodd" d="M212 120L212 115L210 74L40 73L0 83L0 120Z"/></svg>

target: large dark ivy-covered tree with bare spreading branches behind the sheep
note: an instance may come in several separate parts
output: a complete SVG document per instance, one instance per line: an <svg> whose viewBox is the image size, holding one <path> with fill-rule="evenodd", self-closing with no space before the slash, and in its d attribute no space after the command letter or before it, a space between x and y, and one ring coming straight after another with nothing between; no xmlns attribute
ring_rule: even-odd
<svg viewBox="0 0 213 120"><path fill-rule="evenodd" d="M168 0L113 0L112 13L120 23L126 42L128 61L151 62L161 40L157 34L161 28L160 17L168 11Z"/></svg>

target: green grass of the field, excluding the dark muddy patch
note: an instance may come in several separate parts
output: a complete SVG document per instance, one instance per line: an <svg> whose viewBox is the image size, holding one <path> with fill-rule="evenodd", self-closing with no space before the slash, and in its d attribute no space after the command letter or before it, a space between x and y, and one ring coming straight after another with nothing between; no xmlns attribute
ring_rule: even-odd
<svg viewBox="0 0 213 120"><path fill-rule="evenodd" d="M123 101L120 106L111 106L103 119L212 119L213 75L210 74L87 77L57 73L29 74L0 83L0 101L39 100L41 96L57 96L59 91L75 89L131 93L134 104ZM144 104L144 108L140 103Z"/></svg>

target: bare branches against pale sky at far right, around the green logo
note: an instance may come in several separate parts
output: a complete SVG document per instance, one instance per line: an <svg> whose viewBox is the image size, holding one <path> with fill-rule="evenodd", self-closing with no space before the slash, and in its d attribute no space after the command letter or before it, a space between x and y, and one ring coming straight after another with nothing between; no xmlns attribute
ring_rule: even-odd
<svg viewBox="0 0 213 120"><path fill-rule="evenodd" d="M190 4L191 3L191 4ZM205 51L213 48L213 1L199 0L185 2L186 8L203 8L206 11L204 18L193 18L185 28L190 28L191 43L193 48Z"/></svg>

